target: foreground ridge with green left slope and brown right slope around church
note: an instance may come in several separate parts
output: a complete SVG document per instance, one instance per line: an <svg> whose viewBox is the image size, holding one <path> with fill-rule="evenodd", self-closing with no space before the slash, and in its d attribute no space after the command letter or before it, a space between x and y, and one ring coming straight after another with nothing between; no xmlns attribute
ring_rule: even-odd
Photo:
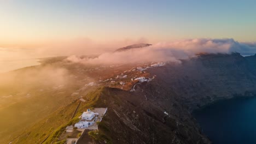
<svg viewBox="0 0 256 144"><path fill-rule="evenodd" d="M157 105L156 101L162 101L163 98L167 98L166 103ZM159 100L155 100L150 95L146 99L142 92L130 93L117 88L100 88L87 94L84 99L87 102L82 103L75 118L70 119L78 101L62 107L53 115L33 125L13 142L34 143L43 141L48 135L44 143L57 142L64 131L63 128L76 122L76 118L89 107L108 107L107 115L100 123L98 132L104 137L98 140L91 138L90 142L93 143L103 143L104 140L110 143L168 143L170 141L203 143L208 141L200 134L189 112L183 110L182 105L177 103L174 93L166 93ZM170 104L174 105L172 109L169 107ZM170 115L166 115L164 111L170 112ZM181 115L182 117L179 117ZM88 140L80 141L80 143L86 142Z"/></svg>

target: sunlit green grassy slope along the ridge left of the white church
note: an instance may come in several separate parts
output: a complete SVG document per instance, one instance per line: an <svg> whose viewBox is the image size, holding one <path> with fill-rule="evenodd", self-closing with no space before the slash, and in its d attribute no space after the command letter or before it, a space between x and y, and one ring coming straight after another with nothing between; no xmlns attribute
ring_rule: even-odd
<svg viewBox="0 0 256 144"><path fill-rule="evenodd" d="M104 100L100 100L101 94L104 92L104 88L98 88L96 91L86 94L83 98L86 100L85 103L81 103L77 114L71 119L73 112L79 100L74 100L72 103L61 107L47 118L34 124L32 127L27 128L25 132L15 139L13 143L40 143L46 137L48 139L44 141L47 143L61 143L59 136L65 131L68 125L72 125L79 121L79 116L88 109L93 107L104 107ZM62 141L63 142L63 141Z"/></svg>

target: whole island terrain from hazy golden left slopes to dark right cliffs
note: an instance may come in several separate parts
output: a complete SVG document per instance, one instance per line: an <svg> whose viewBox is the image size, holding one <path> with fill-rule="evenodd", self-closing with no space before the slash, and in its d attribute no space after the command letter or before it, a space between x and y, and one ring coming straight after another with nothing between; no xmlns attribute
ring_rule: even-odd
<svg viewBox="0 0 256 144"><path fill-rule="evenodd" d="M108 107L99 130L95 134L85 133L82 137L87 138L78 143L211 143L191 112L217 100L254 96L256 56L200 53L181 61L85 65L56 57L43 59L42 65L13 71L16 90L1 86L5 90L1 92L0 113L5 117L1 127L16 122L14 126L23 124L23 129L12 134L15 127L0 131L3 142L34 143L47 139L44 143L61 143L63 128L77 121L80 113L89 107ZM33 83L19 78L28 71L48 67L65 69L65 73L60 73L60 79L65 81L56 82L56 75L46 75L37 85L28 87L24 83ZM51 85L50 79L54 80ZM77 115L69 119L80 97L85 102ZM57 101L59 105L54 105ZM26 112L26 117L38 119L15 121L4 113L9 109L5 106L8 103L14 112ZM34 111L28 112L29 109ZM38 111L44 116L35 115Z"/></svg>

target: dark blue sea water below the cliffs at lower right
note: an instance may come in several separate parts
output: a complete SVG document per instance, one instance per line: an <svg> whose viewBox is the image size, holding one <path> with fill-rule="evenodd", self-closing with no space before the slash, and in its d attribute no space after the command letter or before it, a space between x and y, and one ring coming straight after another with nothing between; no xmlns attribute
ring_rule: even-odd
<svg viewBox="0 0 256 144"><path fill-rule="evenodd" d="M213 143L256 143L256 97L219 101L193 115Z"/></svg>

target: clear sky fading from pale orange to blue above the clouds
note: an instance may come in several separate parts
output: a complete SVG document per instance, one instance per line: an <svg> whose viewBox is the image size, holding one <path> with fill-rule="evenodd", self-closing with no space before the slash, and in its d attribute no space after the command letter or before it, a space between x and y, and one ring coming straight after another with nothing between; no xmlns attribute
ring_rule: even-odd
<svg viewBox="0 0 256 144"><path fill-rule="evenodd" d="M255 0L0 0L0 46L85 38L255 41L255 14Z"/></svg>

